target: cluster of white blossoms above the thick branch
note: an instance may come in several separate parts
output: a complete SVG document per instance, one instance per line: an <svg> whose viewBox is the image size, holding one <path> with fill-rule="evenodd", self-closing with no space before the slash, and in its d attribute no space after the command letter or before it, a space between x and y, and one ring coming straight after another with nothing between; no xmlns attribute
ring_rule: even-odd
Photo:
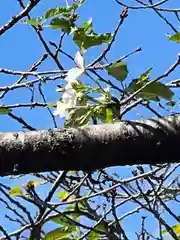
<svg viewBox="0 0 180 240"><path fill-rule="evenodd" d="M84 72L84 59L80 52L76 53L75 56L75 63L77 65L76 68L72 68L68 71L65 80L67 84L64 89L64 93L62 95L62 100L57 101L56 103L56 110L54 111L55 116L67 117L68 116L68 109L75 107L77 102L77 93L76 90L73 89L72 84L78 83L77 79L83 74Z"/></svg>

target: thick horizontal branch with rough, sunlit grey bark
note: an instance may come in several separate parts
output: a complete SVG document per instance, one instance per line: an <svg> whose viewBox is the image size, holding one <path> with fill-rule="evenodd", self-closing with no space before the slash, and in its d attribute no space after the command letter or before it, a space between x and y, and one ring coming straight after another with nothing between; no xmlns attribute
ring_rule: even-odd
<svg viewBox="0 0 180 240"><path fill-rule="evenodd" d="M179 162L180 116L0 133L0 176Z"/></svg>

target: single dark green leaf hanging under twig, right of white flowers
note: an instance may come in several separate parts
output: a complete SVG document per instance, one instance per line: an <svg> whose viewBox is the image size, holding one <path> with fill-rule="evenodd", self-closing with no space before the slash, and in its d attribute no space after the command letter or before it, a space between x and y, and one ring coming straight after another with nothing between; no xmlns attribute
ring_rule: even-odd
<svg viewBox="0 0 180 240"><path fill-rule="evenodd" d="M107 67L108 74L119 81L124 81L128 75L127 65L124 62L115 62Z"/></svg>

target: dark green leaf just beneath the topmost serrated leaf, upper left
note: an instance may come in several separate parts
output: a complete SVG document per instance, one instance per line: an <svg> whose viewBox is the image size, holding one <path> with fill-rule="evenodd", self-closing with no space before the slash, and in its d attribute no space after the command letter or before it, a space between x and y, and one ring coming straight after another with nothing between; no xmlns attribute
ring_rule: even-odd
<svg viewBox="0 0 180 240"><path fill-rule="evenodd" d="M66 33L70 33L74 24L65 18L54 18L51 20L49 26L52 27L52 29L61 29Z"/></svg>

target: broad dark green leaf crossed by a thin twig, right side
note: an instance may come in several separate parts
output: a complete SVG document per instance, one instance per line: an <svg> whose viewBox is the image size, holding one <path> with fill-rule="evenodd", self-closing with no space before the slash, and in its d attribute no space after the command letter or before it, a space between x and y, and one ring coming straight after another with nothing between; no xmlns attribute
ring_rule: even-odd
<svg viewBox="0 0 180 240"><path fill-rule="evenodd" d="M147 82L146 82L147 83ZM146 84L145 83L145 84ZM144 85L144 82L139 82L139 79L134 79L128 86L127 91L134 93ZM153 82L145 87L138 96L146 100L157 101L159 98L164 98L171 101L174 93L161 82Z"/></svg>

